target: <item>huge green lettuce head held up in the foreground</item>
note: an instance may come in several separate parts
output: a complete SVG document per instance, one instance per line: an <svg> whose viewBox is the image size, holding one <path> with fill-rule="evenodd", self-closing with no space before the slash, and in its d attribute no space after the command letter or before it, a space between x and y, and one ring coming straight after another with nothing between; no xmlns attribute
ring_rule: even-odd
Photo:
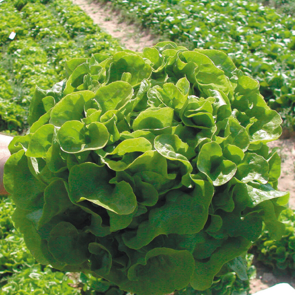
<svg viewBox="0 0 295 295"><path fill-rule="evenodd" d="M13 221L42 264L139 295L245 276L263 222L273 239L288 193L267 142L281 118L258 81L218 50L161 42L66 62L36 88L4 182Z"/></svg>

